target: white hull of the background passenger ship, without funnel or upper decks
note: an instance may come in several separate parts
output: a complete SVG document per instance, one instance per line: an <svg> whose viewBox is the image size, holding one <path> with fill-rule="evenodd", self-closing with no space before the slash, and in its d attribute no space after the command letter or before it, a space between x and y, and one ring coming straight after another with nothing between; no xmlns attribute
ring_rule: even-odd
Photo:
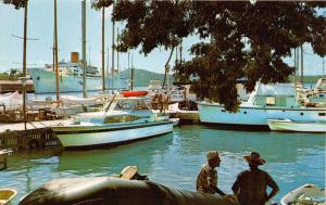
<svg viewBox="0 0 326 205"><path fill-rule="evenodd" d="M52 71L46 68L30 68L30 75L35 93L54 93L57 92L57 76ZM102 89L101 77L87 77L86 87L88 91L98 91ZM113 89L124 89L125 81L118 76L113 78ZM112 88L112 78L105 78L105 88ZM80 92L83 91L83 76L60 75L59 76L60 92Z"/></svg>

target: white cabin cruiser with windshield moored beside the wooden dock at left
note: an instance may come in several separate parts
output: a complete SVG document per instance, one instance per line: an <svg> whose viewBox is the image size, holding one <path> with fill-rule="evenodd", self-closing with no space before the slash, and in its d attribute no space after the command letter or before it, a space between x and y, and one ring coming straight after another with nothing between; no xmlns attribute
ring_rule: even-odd
<svg viewBox="0 0 326 205"><path fill-rule="evenodd" d="M160 118L142 98L117 98L101 112L77 115L68 125L52 127L64 148L112 145L173 131L168 118Z"/></svg>

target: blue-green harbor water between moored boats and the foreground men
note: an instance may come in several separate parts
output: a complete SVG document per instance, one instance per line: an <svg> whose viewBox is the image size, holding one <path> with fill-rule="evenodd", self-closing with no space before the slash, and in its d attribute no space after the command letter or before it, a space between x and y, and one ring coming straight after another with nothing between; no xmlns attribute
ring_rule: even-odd
<svg viewBox="0 0 326 205"><path fill-rule="evenodd" d="M266 159L261 166L277 181L274 198L304 183L325 187L325 140L321 133L234 131L189 125L173 133L104 150L45 150L14 153L0 172L1 187L18 191L12 204L39 185L58 178L120 174L137 165L141 174L164 185L196 190L196 177L209 150L222 153L218 187L231 193L237 175L248 165L243 155L258 151Z"/></svg>

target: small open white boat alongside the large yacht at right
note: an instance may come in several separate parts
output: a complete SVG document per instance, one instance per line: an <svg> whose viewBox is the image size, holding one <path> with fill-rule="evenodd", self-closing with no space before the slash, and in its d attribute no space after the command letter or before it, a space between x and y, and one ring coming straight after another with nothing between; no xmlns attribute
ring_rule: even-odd
<svg viewBox="0 0 326 205"><path fill-rule="evenodd" d="M273 131L326 132L326 121L303 123L291 120L267 119Z"/></svg>

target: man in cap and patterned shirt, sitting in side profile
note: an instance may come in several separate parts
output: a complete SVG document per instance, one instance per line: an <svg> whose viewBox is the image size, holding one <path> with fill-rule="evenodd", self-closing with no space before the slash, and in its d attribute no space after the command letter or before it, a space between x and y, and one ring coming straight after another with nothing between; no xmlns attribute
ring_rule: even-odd
<svg viewBox="0 0 326 205"><path fill-rule="evenodd" d="M208 153L208 164L203 165L196 181L197 191L203 193L218 193L225 195L223 191L217 188L217 171L221 158L217 151L210 151Z"/></svg>

